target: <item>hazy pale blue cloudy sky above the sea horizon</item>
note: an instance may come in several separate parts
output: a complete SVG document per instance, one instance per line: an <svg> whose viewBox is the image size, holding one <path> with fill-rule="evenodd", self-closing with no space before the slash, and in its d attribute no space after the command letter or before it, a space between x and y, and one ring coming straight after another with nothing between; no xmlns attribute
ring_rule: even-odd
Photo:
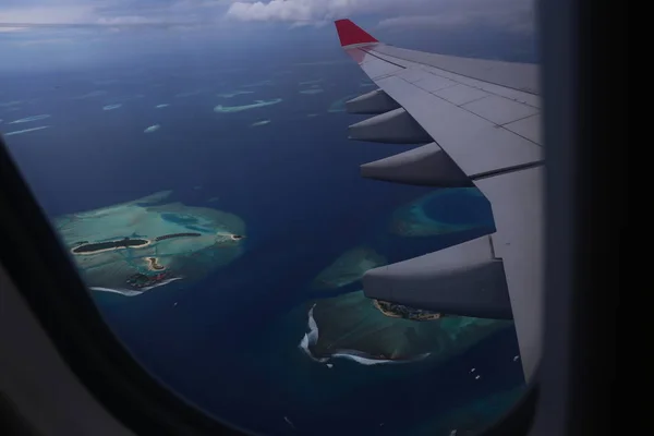
<svg viewBox="0 0 654 436"><path fill-rule="evenodd" d="M461 56L493 57L475 45L494 38L518 53L534 37L533 0L2 0L0 70L75 69L208 43L336 44L331 23L342 17L397 46ZM443 43L451 40L459 48Z"/></svg>

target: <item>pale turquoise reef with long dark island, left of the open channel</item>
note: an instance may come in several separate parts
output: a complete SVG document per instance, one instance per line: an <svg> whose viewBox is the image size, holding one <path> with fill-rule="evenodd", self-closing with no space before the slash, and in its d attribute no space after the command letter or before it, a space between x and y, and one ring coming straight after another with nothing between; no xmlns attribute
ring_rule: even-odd
<svg viewBox="0 0 654 436"><path fill-rule="evenodd" d="M170 281L199 279L242 253L241 218L164 203L169 195L164 191L53 220L88 287L134 295Z"/></svg>

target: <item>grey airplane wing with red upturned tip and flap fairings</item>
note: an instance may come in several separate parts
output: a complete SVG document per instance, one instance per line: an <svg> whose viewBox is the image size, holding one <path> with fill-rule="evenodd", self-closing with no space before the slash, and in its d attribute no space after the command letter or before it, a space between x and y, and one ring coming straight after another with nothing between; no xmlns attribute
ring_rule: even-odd
<svg viewBox="0 0 654 436"><path fill-rule="evenodd" d="M373 117L355 141L422 144L361 167L365 178L435 187L476 186L496 231L368 270L368 298L453 315L513 318L525 378L540 358L543 141L538 66L385 45L335 22L346 52L377 89L346 104Z"/></svg>

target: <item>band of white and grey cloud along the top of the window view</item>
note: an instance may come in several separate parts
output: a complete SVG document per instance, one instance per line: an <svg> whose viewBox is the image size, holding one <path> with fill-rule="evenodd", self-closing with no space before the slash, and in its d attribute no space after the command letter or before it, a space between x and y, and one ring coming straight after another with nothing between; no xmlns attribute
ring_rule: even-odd
<svg viewBox="0 0 654 436"><path fill-rule="evenodd" d="M534 27L534 0L2 0L0 27L23 24L152 25L271 22L293 26L370 17L380 28ZM7 31L5 31L7 32Z"/></svg>

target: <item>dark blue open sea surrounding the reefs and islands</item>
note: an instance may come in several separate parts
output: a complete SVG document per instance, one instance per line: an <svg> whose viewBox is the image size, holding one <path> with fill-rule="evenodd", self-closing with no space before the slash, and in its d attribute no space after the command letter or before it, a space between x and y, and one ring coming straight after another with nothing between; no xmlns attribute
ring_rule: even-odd
<svg viewBox="0 0 654 436"><path fill-rule="evenodd" d="M335 45L274 49L197 49L7 74L0 100L22 102L0 107L0 131L50 125L7 138L50 217L172 190L172 202L245 221L243 255L197 283L174 282L137 298L94 295L136 359L186 400L269 435L419 435L456 415L429 433L437 436L492 421L523 384L512 327L437 364L347 362L326 370L296 352L306 317L293 308L315 298L310 282L343 252L366 245L388 262L426 254L488 233L491 209L445 196L425 208L431 217L470 222L476 214L480 226L428 238L391 233L393 214L434 190L360 177L361 164L407 148L349 142L347 126L363 117L328 112L339 98L373 89L361 86L367 77ZM322 80L325 92L300 94L298 83L311 80ZM216 96L259 81L271 84L228 100ZM218 104L272 98L283 101L213 111ZM122 107L102 110L111 104ZM170 106L154 108L160 104ZM7 124L36 114L50 118ZM271 122L250 126L264 119ZM144 134L153 124L160 129ZM208 204L210 197L217 199ZM353 289L358 284L344 291ZM498 396L505 396L501 407ZM476 409L467 422L461 410L471 404Z"/></svg>

